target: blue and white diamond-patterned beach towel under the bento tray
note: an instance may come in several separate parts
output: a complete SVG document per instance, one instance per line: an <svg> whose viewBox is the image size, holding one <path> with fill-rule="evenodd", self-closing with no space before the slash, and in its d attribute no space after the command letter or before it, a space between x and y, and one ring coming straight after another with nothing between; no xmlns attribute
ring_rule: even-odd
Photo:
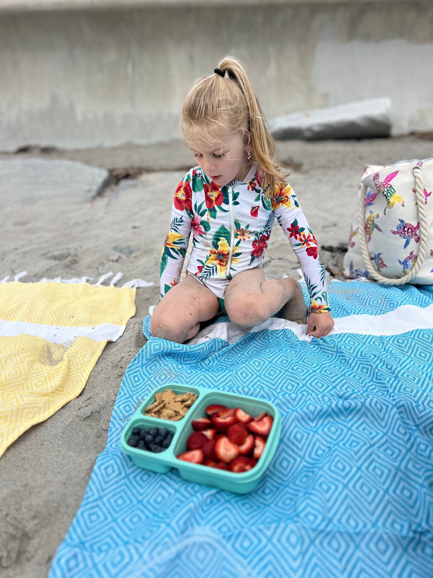
<svg viewBox="0 0 433 578"><path fill-rule="evenodd" d="M222 318L181 345L145 318L50 577L431 578L433 286L335 281L330 302L335 333L310 341L275 318L230 337ZM251 494L122 453L137 404L173 381L277 405L281 441Z"/></svg>

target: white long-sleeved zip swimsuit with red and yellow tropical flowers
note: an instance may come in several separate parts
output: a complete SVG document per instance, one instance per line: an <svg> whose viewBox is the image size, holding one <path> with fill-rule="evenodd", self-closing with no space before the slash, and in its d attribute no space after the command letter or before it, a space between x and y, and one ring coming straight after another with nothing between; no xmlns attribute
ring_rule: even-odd
<svg viewBox="0 0 433 578"><path fill-rule="evenodd" d="M263 175L263 172L260 172ZM218 297L222 311L225 288L237 273L262 266L275 217L296 254L310 297L309 312L329 312L326 272L318 244L292 187L275 188L270 201L253 163L245 182L219 187L199 166L192 168L174 193L170 229L161 254L161 297L180 281L193 233L188 273Z"/></svg>

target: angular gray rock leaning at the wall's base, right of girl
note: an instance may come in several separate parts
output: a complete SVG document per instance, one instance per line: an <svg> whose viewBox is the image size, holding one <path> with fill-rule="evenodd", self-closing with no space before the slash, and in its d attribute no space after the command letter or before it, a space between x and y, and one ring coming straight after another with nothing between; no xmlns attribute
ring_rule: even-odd
<svg viewBox="0 0 433 578"><path fill-rule="evenodd" d="M391 99L372 98L271 119L274 139L323 140L386 137L391 131Z"/></svg>

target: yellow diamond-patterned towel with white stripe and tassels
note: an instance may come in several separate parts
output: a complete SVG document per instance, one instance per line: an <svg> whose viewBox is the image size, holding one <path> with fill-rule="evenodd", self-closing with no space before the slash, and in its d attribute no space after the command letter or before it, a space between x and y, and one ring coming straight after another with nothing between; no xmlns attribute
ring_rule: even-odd
<svg viewBox="0 0 433 578"><path fill-rule="evenodd" d="M107 341L135 315L136 289L0 283L0 457L77 397Z"/></svg>

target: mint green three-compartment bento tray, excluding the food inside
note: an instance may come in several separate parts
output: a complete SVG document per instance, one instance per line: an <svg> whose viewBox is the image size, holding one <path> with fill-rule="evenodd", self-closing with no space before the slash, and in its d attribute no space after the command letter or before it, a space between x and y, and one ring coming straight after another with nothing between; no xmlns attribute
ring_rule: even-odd
<svg viewBox="0 0 433 578"><path fill-rule="evenodd" d="M186 416L179 421L162 420L158 417L146 416L144 410L155 402L155 394L168 389L173 390L176 394L192 391L199 397L193 403ZM211 403L221 403L221 405L233 409L240 407L252 417L258 417L260 414L267 412L268 415L274 418L262 457L257 461L254 468L248 472L234 473L177 459L177 455L186 451L186 440L194 431L191 422L199 417L206 417L205 409ZM128 439L132 434L132 429L136 426L146 429L152 426L167 428L174 434L173 440L171 440L170 446L165 451L155 454L151 451L139 450L137 447L128 446ZM277 450L280 433L281 414L277 407L273 403L266 401L266 399L252 398L225 391L208 390L203 387L190 387L180 383L166 383L154 390L130 418L122 431L120 446L125 454L130 455L132 461L140 468L159 473L167 473L171 468L176 468L184 480L213 486L235 494L248 494L257 486L270 464L275 450Z"/></svg>

